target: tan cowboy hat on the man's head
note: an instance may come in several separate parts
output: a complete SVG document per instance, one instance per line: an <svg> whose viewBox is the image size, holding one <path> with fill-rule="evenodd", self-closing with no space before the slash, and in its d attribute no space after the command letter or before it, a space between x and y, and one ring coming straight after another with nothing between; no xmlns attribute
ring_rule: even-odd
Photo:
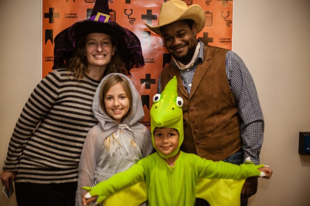
<svg viewBox="0 0 310 206"><path fill-rule="evenodd" d="M162 36L160 27L170 23L182 20L192 19L197 26L197 32L200 32L205 26L205 14L198 4L187 7L186 3L181 0L170 0L162 3L159 11L158 26L153 27L145 23L145 25L155 34Z"/></svg>

